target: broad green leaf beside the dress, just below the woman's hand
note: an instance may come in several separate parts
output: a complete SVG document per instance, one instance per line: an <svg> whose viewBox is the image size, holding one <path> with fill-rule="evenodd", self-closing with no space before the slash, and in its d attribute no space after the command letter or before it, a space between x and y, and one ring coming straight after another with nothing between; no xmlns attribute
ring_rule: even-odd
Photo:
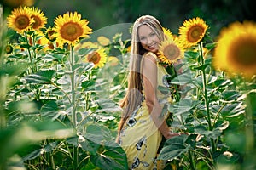
<svg viewBox="0 0 256 170"><path fill-rule="evenodd" d="M188 135L180 135L166 140L166 143L160 154L158 156L159 160L172 161L177 158L177 156L182 155L187 152L190 148L190 145L185 144L185 141L188 139Z"/></svg>

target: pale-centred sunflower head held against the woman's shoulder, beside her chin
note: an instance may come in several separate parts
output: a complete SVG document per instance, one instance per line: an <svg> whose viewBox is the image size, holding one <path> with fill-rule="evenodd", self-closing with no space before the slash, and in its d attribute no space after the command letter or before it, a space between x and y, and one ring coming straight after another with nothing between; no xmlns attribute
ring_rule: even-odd
<svg viewBox="0 0 256 170"><path fill-rule="evenodd" d="M178 59L183 59L183 45L178 38L166 38L160 43L158 58L160 62L171 65L176 63Z"/></svg>

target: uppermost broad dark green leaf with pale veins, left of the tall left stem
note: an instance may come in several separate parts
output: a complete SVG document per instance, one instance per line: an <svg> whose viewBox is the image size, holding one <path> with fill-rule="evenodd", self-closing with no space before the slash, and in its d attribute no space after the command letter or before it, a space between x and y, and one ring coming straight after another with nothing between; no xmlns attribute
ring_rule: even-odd
<svg viewBox="0 0 256 170"><path fill-rule="evenodd" d="M31 74L25 77L26 82L32 84L47 84L51 82L52 77L54 77L55 71L38 71L35 74Z"/></svg>

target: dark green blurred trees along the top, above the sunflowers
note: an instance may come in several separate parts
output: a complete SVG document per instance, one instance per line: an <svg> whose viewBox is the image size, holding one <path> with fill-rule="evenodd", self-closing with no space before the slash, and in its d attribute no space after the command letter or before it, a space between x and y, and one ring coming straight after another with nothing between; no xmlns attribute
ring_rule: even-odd
<svg viewBox="0 0 256 170"><path fill-rule="evenodd" d="M1 0L5 14L11 7L8 1ZM26 0L28 1L28 0ZM132 23L143 14L151 14L160 20L164 27L177 33L184 20L196 16L207 21L212 37L218 35L221 27L233 21L256 20L254 0L32 0L33 6L40 8L48 18L48 26L54 19L67 11L78 11L90 21L96 31L105 26L119 23Z"/></svg>

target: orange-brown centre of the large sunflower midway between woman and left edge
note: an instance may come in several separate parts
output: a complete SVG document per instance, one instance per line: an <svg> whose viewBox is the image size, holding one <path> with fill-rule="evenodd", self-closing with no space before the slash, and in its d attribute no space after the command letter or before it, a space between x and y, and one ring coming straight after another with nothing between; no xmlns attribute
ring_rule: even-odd
<svg viewBox="0 0 256 170"><path fill-rule="evenodd" d="M83 34L83 28L78 23L68 22L61 27L61 37L67 41L74 41Z"/></svg>

